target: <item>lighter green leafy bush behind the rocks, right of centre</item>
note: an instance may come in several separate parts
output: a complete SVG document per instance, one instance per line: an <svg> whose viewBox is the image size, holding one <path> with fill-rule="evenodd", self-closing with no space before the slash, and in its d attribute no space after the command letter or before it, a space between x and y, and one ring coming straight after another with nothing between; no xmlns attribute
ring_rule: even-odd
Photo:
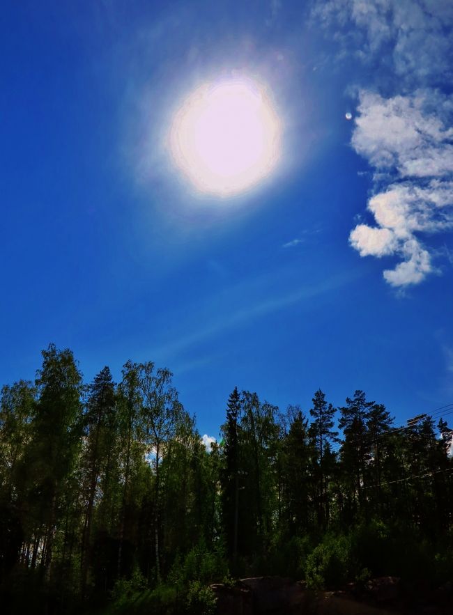
<svg viewBox="0 0 453 615"><path fill-rule="evenodd" d="M348 579L350 544L346 537L327 536L308 556L305 580L309 589L335 589Z"/></svg>

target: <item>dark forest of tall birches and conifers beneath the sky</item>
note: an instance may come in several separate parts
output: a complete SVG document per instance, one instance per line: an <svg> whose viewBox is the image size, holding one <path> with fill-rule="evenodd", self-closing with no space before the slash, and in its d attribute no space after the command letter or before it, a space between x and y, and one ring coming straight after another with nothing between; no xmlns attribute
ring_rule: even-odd
<svg viewBox="0 0 453 615"><path fill-rule="evenodd" d="M84 384L72 352L50 345L34 383L1 390L3 605L80 612L229 575L313 587L453 575L440 414L395 428L363 391L339 408L316 391L307 410L234 389L206 451L167 369L128 361L121 382L105 367Z"/></svg>

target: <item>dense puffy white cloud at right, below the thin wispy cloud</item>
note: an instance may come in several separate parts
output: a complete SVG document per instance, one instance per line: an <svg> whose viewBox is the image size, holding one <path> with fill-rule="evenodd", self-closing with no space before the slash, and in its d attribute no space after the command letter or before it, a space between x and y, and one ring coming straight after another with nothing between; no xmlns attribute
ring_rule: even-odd
<svg viewBox="0 0 453 615"><path fill-rule="evenodd" d="M352 145L375 167L381 190L367 206L376 226L358 224L349 241L360 256L403 259L383 273L392 286L420 283L436 270L420 234L453 227L451 100L438 92L385 99L363 91L358 111Z"/></svg>

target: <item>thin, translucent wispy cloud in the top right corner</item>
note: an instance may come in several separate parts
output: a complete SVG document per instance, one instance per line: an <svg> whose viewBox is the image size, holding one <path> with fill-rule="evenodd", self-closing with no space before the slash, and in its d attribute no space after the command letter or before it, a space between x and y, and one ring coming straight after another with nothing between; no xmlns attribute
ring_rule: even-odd
<svg viewBox="0 0 453 615"><path fill-rule="evenodd" d="M341 56L376 58L406 84L452 76L453 4L447 0L319 0L314 18L335 29Z"/></svg>

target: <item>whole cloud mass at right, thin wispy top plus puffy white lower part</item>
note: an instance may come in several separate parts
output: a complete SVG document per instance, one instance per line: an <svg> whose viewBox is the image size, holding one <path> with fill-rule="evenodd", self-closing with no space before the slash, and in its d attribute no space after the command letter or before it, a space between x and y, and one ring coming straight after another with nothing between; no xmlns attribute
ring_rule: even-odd
<svg viewBox="0 0 453 615"><path fill-rule="evenodd" d="M392 286L420 283L436 271L430 233L453 226L453 3L315 0L312 14L337 59L372 66L351 144L374 167L373 221L355 226L351 246L398 258L383 272Z"/></svg>

